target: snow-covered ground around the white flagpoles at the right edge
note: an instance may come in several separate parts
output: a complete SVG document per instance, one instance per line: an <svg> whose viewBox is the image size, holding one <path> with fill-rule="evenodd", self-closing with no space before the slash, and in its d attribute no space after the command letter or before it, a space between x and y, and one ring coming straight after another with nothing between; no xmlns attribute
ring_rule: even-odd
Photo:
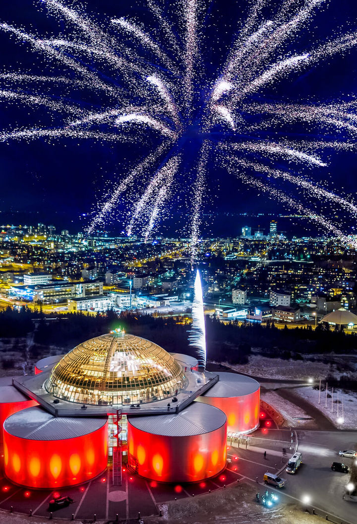
<svg viewBox="0 0 357 524"><path fill-rule="evenodd" d="M347 393L341 389L333 391L333 402L332 402L332 411L331 411L331 398L327 399L327 408L326 404L326 391L321 391L320 394L320 403L319 400L319 391L313 389L311 386L295 388L292 391L296 395L304 398L310 402L315 408L321 411L325 417L329 418L331 422L340 429L357 429L357 393L351 392ZM337 413L337 391L339 399L339 407ZM328 388L328 393L331 395L331 388ZM343 411L342 411L343 406ZM276 408L277 409L277 408ZM342 418L343 414L343 418Z"/></svg>

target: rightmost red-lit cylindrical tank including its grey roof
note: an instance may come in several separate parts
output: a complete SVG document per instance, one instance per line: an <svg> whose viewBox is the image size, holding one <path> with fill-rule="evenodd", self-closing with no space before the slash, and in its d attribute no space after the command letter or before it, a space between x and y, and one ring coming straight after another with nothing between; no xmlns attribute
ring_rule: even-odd
<svg viewBox="0 0 357 524"><path fill-rule="evenodd" d="M249 433L259 426L260 385L253 378L237 373L219 373L219 381L197 402L222 410L227 416L227 431Z"/></svg>

